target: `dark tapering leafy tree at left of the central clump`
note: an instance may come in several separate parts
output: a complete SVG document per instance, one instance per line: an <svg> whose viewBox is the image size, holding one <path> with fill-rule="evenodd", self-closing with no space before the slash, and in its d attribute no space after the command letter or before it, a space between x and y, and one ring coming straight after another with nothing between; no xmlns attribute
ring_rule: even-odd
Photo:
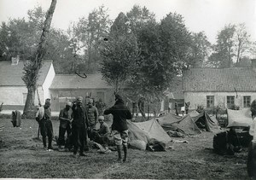
<svg viewBox="0 0 256 180"><path fill-rule="evenodd" d="M101 49L104 79L114 87L115 91L122 91L134 68L137 59L137 39L129 30L128 19L124 13L114 20L108 41Z"/></svg>

